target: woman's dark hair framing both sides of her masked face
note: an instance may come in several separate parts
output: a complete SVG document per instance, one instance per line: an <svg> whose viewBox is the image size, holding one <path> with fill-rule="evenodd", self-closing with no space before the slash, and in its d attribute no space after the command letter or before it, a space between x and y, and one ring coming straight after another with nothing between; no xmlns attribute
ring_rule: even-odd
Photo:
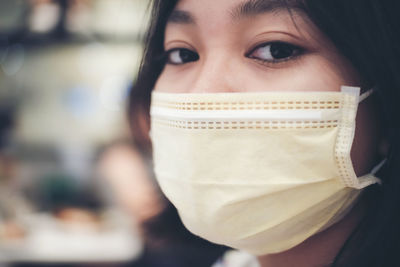
<svg viewBox="0 0 400 267"><path fill-rule="evenodd" d="M281 0L293 4L293 0ZM332 41L362 77L374 87L383 108L383 125L390 144L380 173L381 186L367 188L368 210L343 245L333 266L400 266L400 2L396 0L294 0ZM134 135L145 141L149 129L151 90L165 62L163 38L166 20L177 0L153 1L152 22L137 81L130 98ZM139 114L139 115L138 115ZM140 123L139 117L145 116ZM144 126L144 127L143 127ZM399 262L399 263L398 263Z"/></svg>

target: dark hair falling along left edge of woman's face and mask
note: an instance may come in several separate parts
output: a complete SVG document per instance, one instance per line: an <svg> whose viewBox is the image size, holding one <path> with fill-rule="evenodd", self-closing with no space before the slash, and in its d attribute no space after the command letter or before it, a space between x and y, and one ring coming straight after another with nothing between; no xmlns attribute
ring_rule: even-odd
<svg viewBox="0 0 400 267"><path fill-rule="evenodd" d="M134 139L133 142L144 157L151 155L151 143L148 136L150 129L150 93L165 65L161 57L164 52L164 29L169 14L176 3L177 1L152 1L152 21L145 38L144 56L138 78L132 86L129 97L128 118ZM194 262L189 261L190 264L183 266L209 266L212 264L209 262L210 260L216 261L219 256L229 249L226 246L210 243L190 233L184 227L172 203L165 197L162 199L165 202L164 209L143 225L146 238L150 242L169 243L169 245L171 243L186 244L189 250L184 253L187 255L180 255L180 257L189 257ZM190 248L196 248L196 252L190 252Z"/></svg>

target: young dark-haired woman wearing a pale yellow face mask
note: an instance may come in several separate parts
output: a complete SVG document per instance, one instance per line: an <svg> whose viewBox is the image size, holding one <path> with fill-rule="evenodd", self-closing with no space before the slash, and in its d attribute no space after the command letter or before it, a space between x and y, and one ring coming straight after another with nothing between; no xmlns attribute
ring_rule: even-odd
<svg viewBox="0 0 400 267"><path fill-rule="evenodd" d="M262 267L400 265L399 4L153 4L130 115L185 226Z"/></svg>

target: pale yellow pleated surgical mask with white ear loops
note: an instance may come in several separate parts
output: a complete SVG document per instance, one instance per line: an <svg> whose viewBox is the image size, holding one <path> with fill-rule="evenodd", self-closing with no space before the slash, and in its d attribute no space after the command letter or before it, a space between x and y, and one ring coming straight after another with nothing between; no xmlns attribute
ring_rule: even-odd
<svg viewBox="0 0 400 267"><path fill-rule="evenodd" d="M288 250L379 182L358 178L350 158L359 94L153 92L161 189L196 235L256 255Z"/></svg>

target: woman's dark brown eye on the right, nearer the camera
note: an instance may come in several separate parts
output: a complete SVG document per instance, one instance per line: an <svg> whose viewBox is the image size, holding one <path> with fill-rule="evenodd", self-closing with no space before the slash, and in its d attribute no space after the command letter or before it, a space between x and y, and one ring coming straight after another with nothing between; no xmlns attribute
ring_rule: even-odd
<svg viewBox="0 0 400 267"><path fill-rule="evenodd" d="M257 46L246 54L264 62L278 63L300 55L303 49L284 42L271 42Z"/></svg>

